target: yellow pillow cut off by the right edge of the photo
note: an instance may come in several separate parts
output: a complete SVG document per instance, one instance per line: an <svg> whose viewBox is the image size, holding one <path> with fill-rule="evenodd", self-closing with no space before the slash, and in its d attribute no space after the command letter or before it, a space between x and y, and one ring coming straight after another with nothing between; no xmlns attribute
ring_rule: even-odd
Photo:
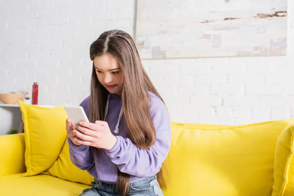
<svg viewBox="0 0 294 196"><path fill-rule="evenodd" d="M272 196L294 196L294 124L278 138L274 157Z"/></svg>

